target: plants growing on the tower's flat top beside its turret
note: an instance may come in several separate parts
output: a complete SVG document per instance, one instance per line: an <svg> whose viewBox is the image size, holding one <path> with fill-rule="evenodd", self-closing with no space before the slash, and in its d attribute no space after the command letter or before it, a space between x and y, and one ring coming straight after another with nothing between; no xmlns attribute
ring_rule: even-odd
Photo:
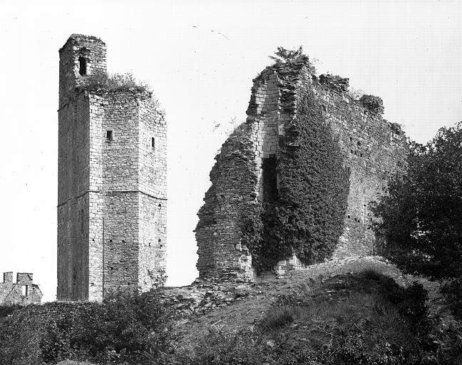
<svg viewBox="0 0 462 365"><path fill-rule="evenodd" d="M147 83L139 81L133 73L96 72L83 76L78 84L79 90L90 91L137 91L152 93Z"/></svg>

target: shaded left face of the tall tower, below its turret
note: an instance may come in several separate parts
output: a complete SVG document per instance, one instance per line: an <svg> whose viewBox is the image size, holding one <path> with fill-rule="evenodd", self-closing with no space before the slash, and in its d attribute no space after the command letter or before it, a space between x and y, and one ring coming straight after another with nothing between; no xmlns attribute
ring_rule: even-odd
<svg viewBox="0 0 462 365"><path fill-rule="evenodd" d="M85 299L88 282L88 110L80 94L58 113L58 293L69 300Z"/></svg>

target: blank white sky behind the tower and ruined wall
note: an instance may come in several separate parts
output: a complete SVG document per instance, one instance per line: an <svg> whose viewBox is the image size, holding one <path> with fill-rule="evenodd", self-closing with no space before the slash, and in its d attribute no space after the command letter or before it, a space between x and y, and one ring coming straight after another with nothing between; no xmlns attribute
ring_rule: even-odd
<svg viewBox="0 0 462 365"><path fill-rule="evenodd" d="M197 210L232 118L277 46L384 99L419 142L462 120L462 2L0 0L0 273L56 295L58 49L108 46L108 70L148 81L168 120L168 275L195 279ZM214 125L221 123L213 131ZM0 277L1 280L1 277Z"/></svg>

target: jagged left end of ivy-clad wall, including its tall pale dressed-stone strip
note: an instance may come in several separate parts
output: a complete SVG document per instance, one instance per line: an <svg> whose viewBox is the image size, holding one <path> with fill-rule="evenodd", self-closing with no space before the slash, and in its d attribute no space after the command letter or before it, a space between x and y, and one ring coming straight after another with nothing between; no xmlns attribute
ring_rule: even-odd
<svg viewBox="0 0 462 365"><path fill-rule="evenodd" d="M288 97L288 91L280 83L272 68L254 80L245 125L215 157L212 186L205 193L196 228L197 269L202 279L248 281L255 277L252 256L241 244L240 220L246 206L262 202L262 161L277 156L283 125L293 117L293 108L282 108L282 96Z"/></svg>

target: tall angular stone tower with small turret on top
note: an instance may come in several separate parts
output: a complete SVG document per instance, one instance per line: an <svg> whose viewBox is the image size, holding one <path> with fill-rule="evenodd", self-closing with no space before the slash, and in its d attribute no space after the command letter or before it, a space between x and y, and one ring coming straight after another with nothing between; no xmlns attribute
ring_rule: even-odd
<svg viewBox="0 0 462 365"><path fill-rule="evenodd" d="M86 87L101 39L73 34L59 56L58 300L148 290L165 269L163 112L147 91Z"/></svg>

